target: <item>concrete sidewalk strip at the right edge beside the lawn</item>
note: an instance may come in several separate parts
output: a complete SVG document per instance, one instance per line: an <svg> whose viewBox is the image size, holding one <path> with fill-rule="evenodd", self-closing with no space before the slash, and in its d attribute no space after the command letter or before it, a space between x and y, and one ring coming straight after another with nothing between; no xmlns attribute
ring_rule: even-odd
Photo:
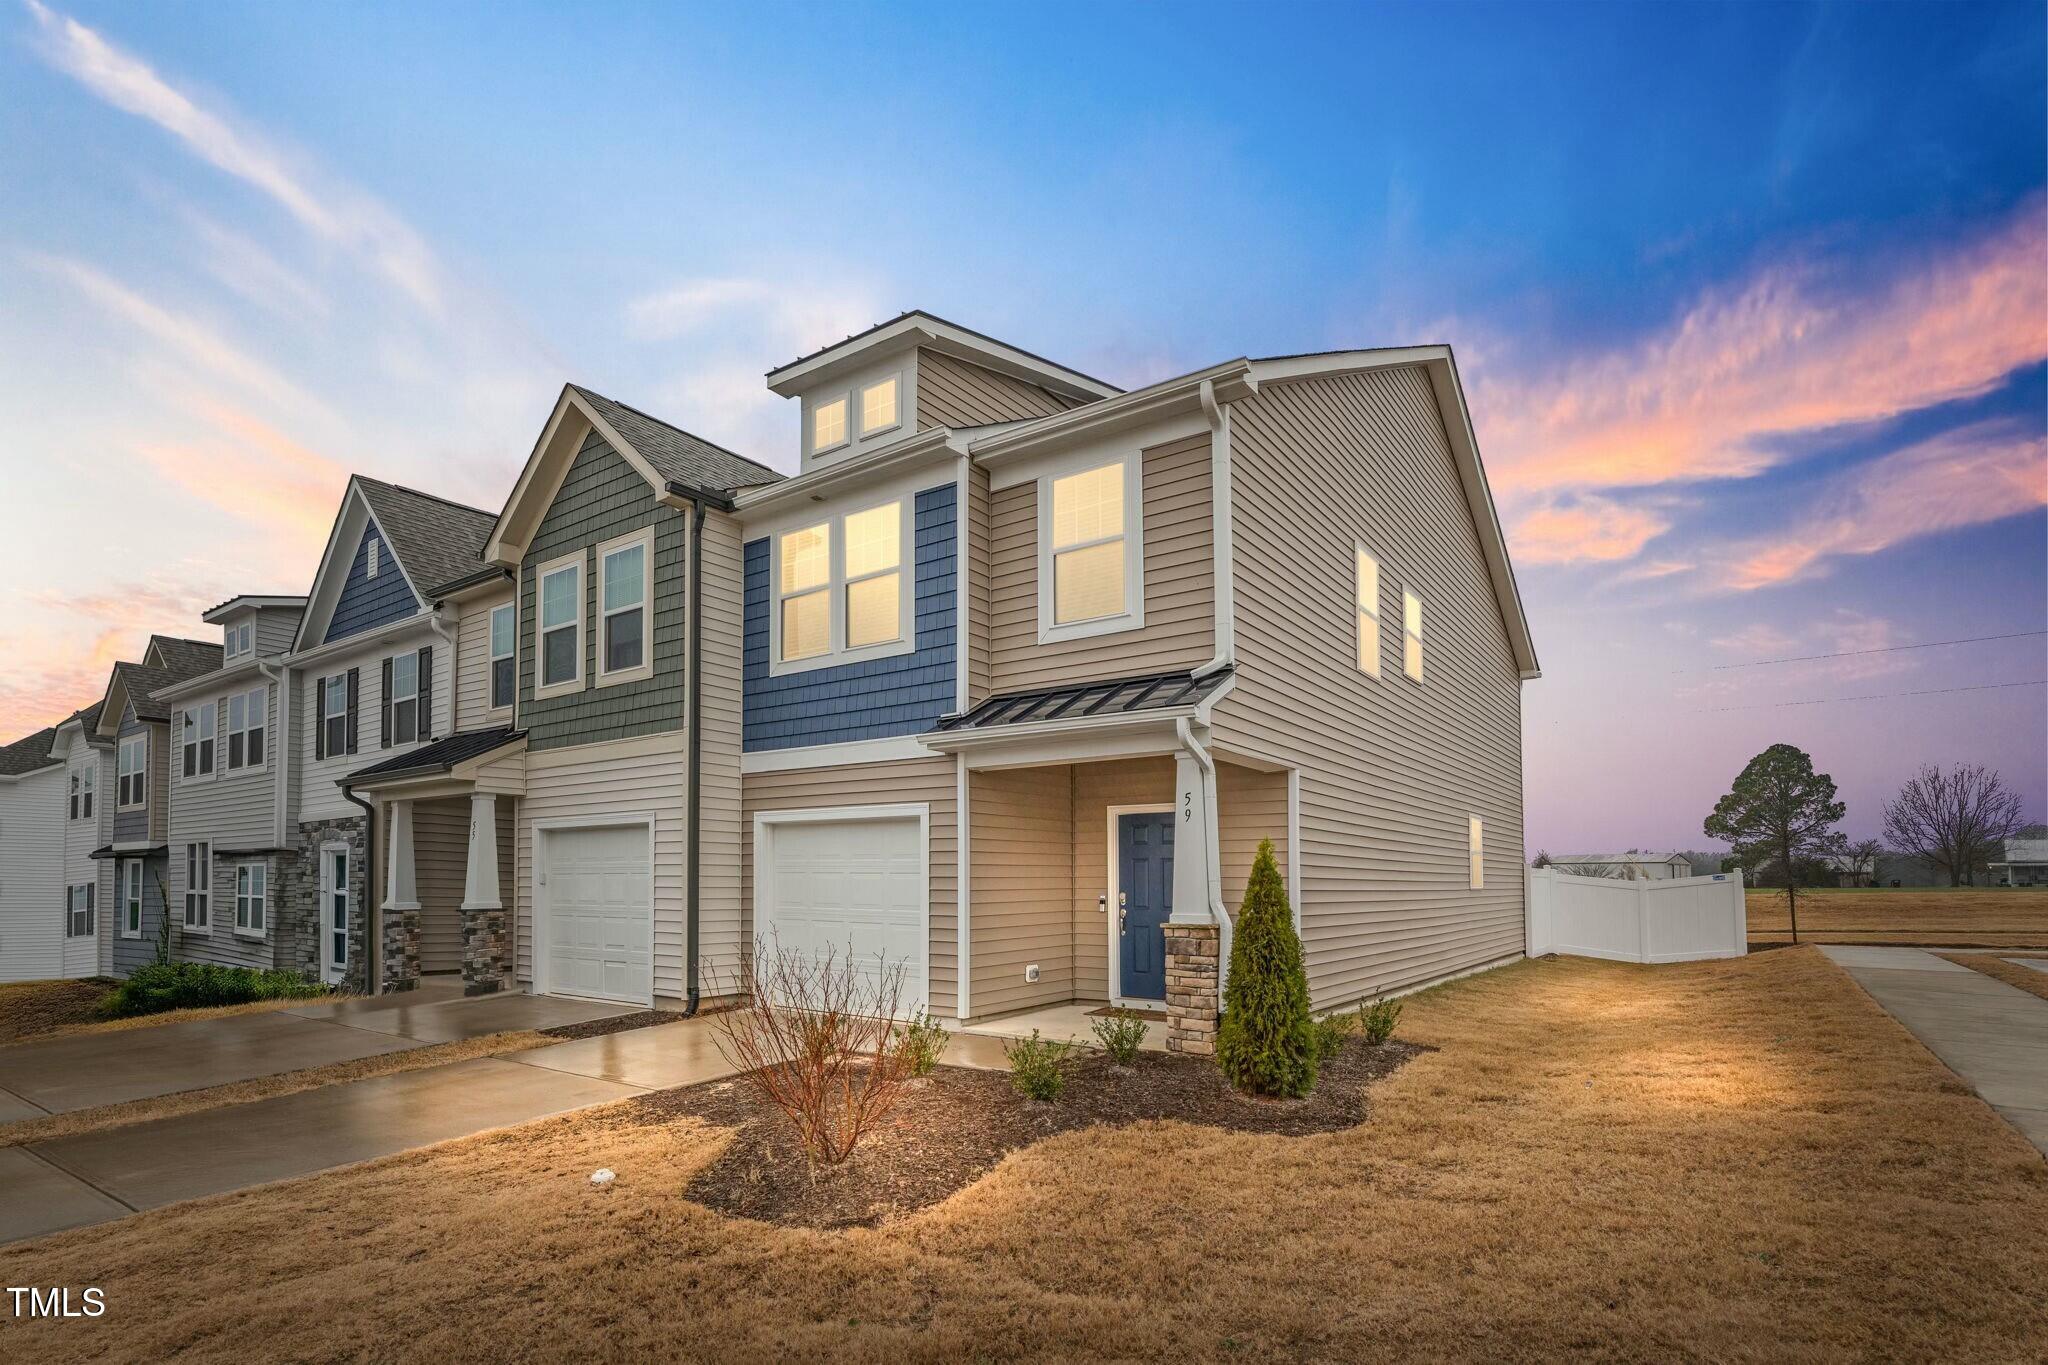
<svg viewBox="0 0 2048 1365"><path fill-rule="evenodd" d="M2048 1001L1919 948L1821 952L2048 1154Z"/></svg>

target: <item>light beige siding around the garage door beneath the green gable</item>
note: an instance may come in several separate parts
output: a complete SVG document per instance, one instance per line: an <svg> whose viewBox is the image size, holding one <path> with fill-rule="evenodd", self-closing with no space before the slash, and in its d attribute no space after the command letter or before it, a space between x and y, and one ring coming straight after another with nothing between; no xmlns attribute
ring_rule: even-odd
<svg viewBox="0 0 2048 1365"><path fill-rule="evenodd" d="M682 731L598 745L526 753L526 796L518 812L518 884L532 888L535 825L553 819L653 817L653 993L684 997L684 821L688 753ZM532 980L532 894L522 894L516 972ZM709 988L707 988L709 993Z"/></svg>

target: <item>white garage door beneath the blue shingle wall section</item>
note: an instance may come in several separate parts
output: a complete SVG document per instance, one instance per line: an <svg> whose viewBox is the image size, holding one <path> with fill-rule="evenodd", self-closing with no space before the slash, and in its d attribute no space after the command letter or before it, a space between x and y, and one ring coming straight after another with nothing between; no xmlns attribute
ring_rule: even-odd
<svg viewBox="0 0 2048 1365"><path fill-rule="evenodd" d="M918 817L780 821L756 849L756 933L784 952L852 954L870 978L903 968L899 1015L926 1009L930 927Z"/></svg>

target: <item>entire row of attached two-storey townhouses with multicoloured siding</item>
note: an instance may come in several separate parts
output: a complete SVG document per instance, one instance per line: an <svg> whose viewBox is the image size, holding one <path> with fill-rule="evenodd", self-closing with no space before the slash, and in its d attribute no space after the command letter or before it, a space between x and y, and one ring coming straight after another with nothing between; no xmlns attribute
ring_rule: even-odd
<svg viewBox="0 0 2048 1365"><path fill-rule="evenodd" d="M1262 839L1317 1007L1522 952L1538 669L1448 348L1126 393L905 313L768 387L793 477L575 385L498 512L354 477L303 598L0 751L0 974L694 1009L772 943L1202 1050Z"/></svg>

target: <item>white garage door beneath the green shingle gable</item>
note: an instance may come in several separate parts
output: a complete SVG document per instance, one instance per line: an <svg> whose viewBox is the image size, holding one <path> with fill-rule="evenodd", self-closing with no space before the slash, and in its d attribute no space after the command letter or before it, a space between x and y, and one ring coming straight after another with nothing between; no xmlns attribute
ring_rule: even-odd
<svg viewBox="0 0 2048 1365"><path fill-rule="evenodd" d="M653 864L645 825L551 829L541 952L549 995L653 1001Z"/></svg>

